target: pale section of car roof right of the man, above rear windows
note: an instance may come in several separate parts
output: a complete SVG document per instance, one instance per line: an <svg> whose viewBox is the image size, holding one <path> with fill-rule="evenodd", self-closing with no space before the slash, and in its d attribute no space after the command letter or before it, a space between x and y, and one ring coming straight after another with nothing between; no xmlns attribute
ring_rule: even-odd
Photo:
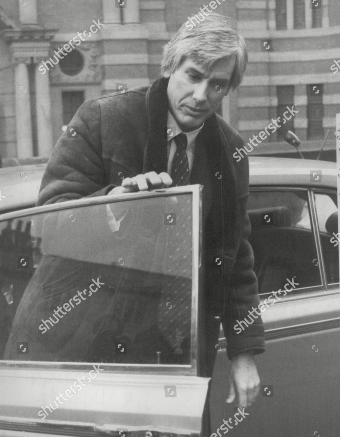
<svg viewBox="0 0 340 437"><path fill-rule="evenodd" d="M319 171L314 180L313 173ZM249 156L249 175L251 186L337 187L337 164L330 161Z"/></svg>

